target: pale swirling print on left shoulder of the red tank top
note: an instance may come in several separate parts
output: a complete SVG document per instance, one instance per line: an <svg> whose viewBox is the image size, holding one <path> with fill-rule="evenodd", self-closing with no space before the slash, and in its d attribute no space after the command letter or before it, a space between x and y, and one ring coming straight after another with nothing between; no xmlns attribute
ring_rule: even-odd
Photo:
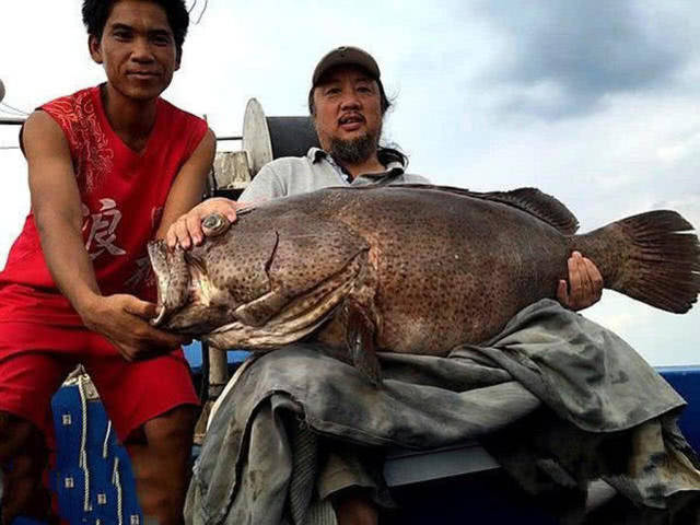
<svg viewBox="0 0 700 525"><path fill-rule="evenodd" d="M79 187L93 191L112 171L114 150L108 148L107 136L100 126L90 90L54 101L44 108L66 133Z"/></svg>

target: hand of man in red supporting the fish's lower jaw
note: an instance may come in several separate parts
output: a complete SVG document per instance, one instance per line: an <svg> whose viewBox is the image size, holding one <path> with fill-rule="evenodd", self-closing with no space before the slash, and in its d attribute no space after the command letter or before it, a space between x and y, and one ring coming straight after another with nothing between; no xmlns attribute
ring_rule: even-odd
<svg viewBox="0 0 700 525"><path fill-rule="evenodd" d="M155 315L155 304L127 294L95 296L81 308L85 326L109 339L129 362L162 355L190 341L152 327L149 319Z"/></svg>

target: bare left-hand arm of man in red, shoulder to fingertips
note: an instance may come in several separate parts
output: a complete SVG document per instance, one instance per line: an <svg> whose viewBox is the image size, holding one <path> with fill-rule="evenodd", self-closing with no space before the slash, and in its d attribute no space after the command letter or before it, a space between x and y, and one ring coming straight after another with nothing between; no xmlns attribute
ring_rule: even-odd
<svg viewBox="0 0 700 525"><path fill-rule="evenodd" d="M104 296L82 235L83 215L68 142L44 112L24 125L32 210L48 269L85 326L107 337L127 360L179 346L184 338L149 325L155 305L127 294Z"/></svg>

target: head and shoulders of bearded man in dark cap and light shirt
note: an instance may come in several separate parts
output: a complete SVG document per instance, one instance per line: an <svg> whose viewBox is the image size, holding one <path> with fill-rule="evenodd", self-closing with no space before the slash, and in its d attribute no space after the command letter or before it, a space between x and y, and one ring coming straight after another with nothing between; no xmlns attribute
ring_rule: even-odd
<svg viewBox="0 0 700 525"><path fill-rule="evenodd" d="M308 92L308 110L320 149L267 164L241 201L327 186L430 184L422 176L405 172L407 159L402 153L380 145L384 115L390 106L374 59L355 47L334 49L316 66Z"/></svg>

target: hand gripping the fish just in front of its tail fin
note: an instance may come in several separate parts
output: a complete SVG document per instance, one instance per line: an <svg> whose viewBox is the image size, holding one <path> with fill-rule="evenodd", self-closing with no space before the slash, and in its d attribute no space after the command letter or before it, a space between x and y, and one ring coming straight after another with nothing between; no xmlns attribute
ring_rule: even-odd
<svg viewBox="0 0 700 525"><path fill-rule="evenodd" d="M579 311L597 303L603 294L603 276L593 261L579 252L569 257L569 284L559 281L557 299L569 310Z"/></svg>

